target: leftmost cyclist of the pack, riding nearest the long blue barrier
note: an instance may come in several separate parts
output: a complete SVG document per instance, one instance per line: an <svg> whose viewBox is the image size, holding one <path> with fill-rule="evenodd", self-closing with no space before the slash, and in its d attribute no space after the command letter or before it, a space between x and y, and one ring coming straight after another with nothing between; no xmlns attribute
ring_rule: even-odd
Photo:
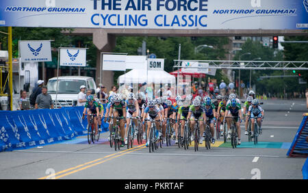
<svg viewBox="0 0 308 193"><path fill-rule="evenodd" d="M95 138L95 140L97 140L99 138L99 135L98 135L99 131L98 131L98 128L97 128L98 127L97 126L97 123L98 123L97 119L101 119L101 118L99 117L100 116L100 114L99 114L99 104L97 104L97 102L94 101L92 95L89 95L87 97L86 105L84 105L84 112L82 113L82 119L84 119L86 112L87 112L88 115L96 114L95 115L96 118L94 118L93 123L94 123L94 130L95 130L94 138ZM88 119L88 125L90 125L90 116L87 116L87 119Z"/></svg>

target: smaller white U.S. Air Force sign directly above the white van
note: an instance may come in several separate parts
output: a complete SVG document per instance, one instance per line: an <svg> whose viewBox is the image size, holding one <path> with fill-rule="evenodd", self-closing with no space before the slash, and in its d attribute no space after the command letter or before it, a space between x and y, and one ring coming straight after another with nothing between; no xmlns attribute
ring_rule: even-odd
<svg viewBox="0 0 308 193"><path fill-rule="evenodd" d="M60 66L86 66L86 49L60 48Z"/></svg>

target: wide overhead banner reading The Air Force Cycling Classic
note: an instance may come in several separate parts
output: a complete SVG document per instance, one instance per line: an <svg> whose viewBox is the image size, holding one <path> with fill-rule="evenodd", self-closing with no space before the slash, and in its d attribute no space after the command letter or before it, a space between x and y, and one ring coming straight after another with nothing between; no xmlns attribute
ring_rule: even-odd
<svg viewBox="0 0 308 193"><path fill-rule="evenodd" d="M308 29L308 0L1 0L1 26Z"/></svg>

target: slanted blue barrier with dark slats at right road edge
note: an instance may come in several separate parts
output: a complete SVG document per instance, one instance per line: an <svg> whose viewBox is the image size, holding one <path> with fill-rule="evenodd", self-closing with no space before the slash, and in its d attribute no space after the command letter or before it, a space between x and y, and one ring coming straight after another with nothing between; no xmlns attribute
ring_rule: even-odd
<svg viewBox="0 0 308 193"><path fill-rule="evenodd" d="M308 142L306 141L308 136L307 120L308 116L304 116L290 149L287 151L289 157L308 157Z"/></svg>

